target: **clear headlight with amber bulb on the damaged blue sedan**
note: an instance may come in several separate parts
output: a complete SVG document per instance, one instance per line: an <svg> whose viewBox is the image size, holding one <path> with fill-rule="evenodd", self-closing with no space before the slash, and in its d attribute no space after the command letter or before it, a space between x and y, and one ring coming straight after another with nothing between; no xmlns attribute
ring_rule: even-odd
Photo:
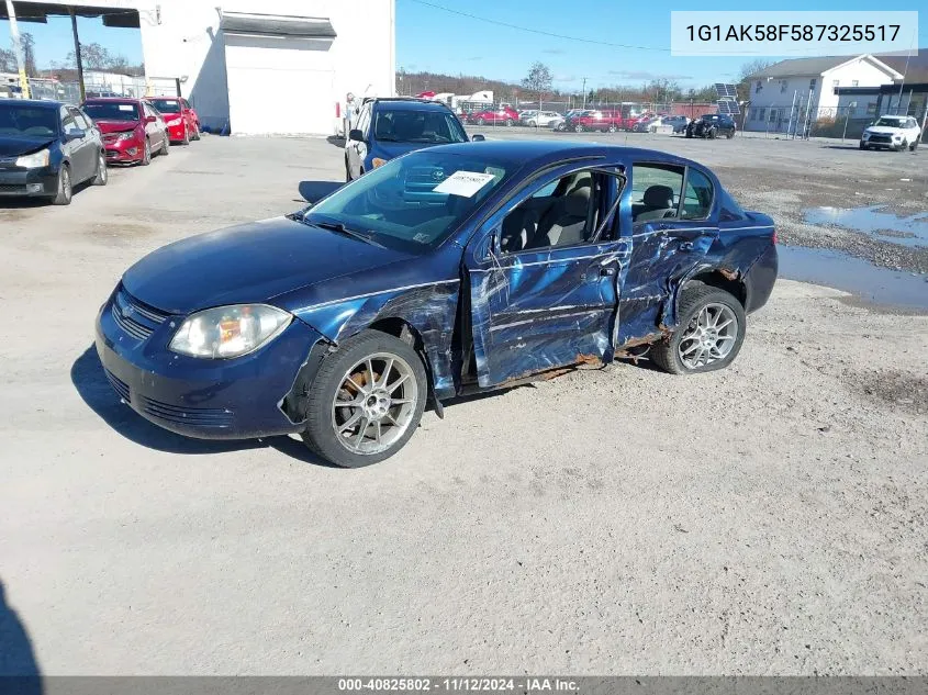
<svg viewBox="0 0 928 695"><path fill-rule="evenodd" d="M273 339L293 316L267 304L216 306L185 321L169 349L190 357L241 357Z"/></svg>

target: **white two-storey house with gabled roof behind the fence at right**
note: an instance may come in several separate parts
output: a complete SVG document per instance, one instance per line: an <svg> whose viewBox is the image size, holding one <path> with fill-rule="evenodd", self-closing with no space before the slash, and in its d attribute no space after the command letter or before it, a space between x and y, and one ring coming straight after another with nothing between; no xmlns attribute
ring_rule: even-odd
<svg viewBox="0 0 928 695"><path fill-rule="evenodd" d="M839 105L835 88L880 87L901 78L870 54L781 60L747 78L750 105L745 130L781 131L791 114L806 110L812 119L834 117Z"/></svg>

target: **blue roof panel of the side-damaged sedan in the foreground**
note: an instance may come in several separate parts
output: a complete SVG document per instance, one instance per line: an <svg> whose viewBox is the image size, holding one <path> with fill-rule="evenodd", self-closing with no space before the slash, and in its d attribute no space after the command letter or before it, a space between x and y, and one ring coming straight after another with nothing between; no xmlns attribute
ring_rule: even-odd
<svg viewBox="0 0 928 695"><path fill-rule="evenodd" d="M448 153L472 155L480 148L488 156L497 160L512 160L525 164L532 169L538 169L558 161L570 159L603 159L602 164L623 164L628 159L639 159L652 162L677 164L680 166L695 165L706 169L703 165L691 159L684 159L658 149L642 147L622 147L618 145L584 145L572 142L557 141L484 141L482 143L459 143L455 145L438 145L426 152L444 150Z"/></svg>

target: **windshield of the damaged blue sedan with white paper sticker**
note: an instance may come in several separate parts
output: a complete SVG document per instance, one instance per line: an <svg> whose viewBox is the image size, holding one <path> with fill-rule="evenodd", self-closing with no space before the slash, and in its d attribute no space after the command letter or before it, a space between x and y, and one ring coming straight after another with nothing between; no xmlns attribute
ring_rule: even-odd
<svg viewBox="0 0 928 695"><path fill-rule="evenodd" d="M473 152L414 152L368 171L297 218L422 253L444 242L517 167Z"/></svg>

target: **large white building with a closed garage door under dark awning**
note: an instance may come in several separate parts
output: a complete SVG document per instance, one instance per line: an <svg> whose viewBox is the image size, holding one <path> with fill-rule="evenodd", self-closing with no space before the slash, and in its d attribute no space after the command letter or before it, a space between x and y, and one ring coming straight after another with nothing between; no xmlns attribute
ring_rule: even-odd
<svg viewBox="0 0 928 695"><path fill-rule="evenodd" d="M14 4L16 1L14 0ZM239 134L332 134L347 92L392 96L395 0L30 0L132 26L149 83L179 80L201 123ZM55 7L57 5L57 7ZM125 10L125 14L113 12ZM164 91L159 89L158 91Z"/></svg>

